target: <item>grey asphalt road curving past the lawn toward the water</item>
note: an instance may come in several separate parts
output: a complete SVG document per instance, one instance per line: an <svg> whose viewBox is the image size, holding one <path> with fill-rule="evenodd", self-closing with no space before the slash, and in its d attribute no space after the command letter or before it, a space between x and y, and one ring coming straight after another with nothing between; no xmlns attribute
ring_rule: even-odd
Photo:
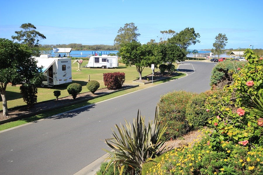
<svg viewBox="0 0 263 175"><path fill-rule="evenodd" d="M188 76L0 133L0 174L74 174L105 154L111 127L132 122L138 109L153 119L160 95L204 92L215 63L184 62ZM187 64L191 63L191 64ZM195 70L195 71L194 71Z"/></svg>

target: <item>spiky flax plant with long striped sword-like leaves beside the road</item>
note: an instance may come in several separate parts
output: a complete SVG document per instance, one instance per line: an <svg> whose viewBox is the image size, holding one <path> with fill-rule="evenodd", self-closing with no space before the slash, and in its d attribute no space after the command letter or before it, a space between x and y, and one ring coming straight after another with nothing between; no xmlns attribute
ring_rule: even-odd
<svg viewBox="0 0 263 175"><path fill-rule="evenodd" d="M160 122L157 122L157 116L158 108L155 111L154 121L150 120L147 125L144 117L141 116L140 110L138 110L137 118L133 120L132 126L127 120L125 120L126 128L122 124L120 124L120 127L116 124L118 134L112 129L113 138L105 139L105 143L113 149L113 151L105 150L109 153L107 159L127 164L141 171L144 162L152 160L163 153L167 147L161 147L171 136L161 139L167 126L165 125L161 130Z"/></svg>

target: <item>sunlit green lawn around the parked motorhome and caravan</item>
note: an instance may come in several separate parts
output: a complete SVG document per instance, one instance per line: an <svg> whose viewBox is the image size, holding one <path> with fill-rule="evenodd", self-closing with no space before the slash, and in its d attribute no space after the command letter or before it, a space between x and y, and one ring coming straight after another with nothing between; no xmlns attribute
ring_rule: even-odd
<svg viewBox="0 0 263 175"><path fill-rule="evenodd" d="M73 62L73 60L72 60ZM82 65L88 64L88 61L83 61ZM125 64L119 64L118 68L113 68L113 69L101 69L101 68L82 68L81 71L77 71L77 64L72 64L72 83L79 83L82 85L82 91L83 92L89 92L89 90L86 88L86 84L89 80L96 80L100 83L100 88L105 88L104 82L103 82L103 73L108 73L108 72L124 72L125 73L125 82L124 84L134 84L132 83L133 80L136 80L139 78L139 74L136 71L135 66L131 67L125 67ZM177 68L177 64L175 64ZM155 71L159 71L159 69L155 69ZM142 76L147 76L152 73L151 68L144 68L142 72ZM160 83L160 82L159 82ZM68 96L68 91L67 91L67 86L69 84L62 84L62 85L57 85L53 87L46 87L46 88L38 88L38 93L37 93L37 102L41 101L46 101L46 100L51 100L55 99L56 97L53 95L54 90L60 90L61 95L59 97L66 97ZM141 86L141 85L140 85ZM7 99L7 106L8 108L12 108L15 106L22 106L25 105L26 103L23 101L21 95L20 95L20 90L19 90L19 85L17 86L11 86L7 85L6 88L6 99ZM145 86L142 86L145 87ZM3 102L2 98L0 99L0 110L3 110Z"/></svg>

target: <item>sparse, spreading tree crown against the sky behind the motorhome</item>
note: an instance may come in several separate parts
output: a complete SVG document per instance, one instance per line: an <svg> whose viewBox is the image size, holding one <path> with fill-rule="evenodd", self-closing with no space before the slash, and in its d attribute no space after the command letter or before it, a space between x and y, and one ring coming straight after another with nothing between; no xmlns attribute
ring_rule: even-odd
<svg viewBox="0 0 263 175"><path fill-rule="evenodd" d="M36 31L37 29L31 23L25 23L20 26L22 30L15 31L17 36L12 36L13 40L22 41L22 44L26 44L30 48L38 47L39 41L42 39L46 39L46 36L41 34L40 32Z"/></svg>

